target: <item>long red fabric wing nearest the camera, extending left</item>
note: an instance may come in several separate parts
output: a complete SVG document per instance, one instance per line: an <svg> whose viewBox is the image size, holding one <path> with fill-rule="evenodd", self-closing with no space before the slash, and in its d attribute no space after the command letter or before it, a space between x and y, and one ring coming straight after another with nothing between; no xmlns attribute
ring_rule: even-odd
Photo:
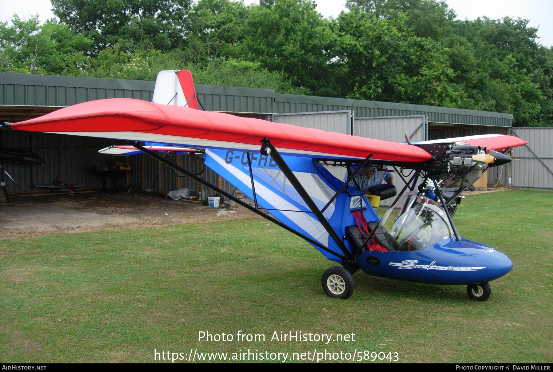
<svg viewBox="0 0 553 372"><path fill-rule="evenodd" d="M423 149L409 144L126 98L89 101L64 107L38 118L15 123L12 128L67 134L114 132L112 138L124 138L124 133L118 136L116 132L132 131L255 146L260 146L259 141L267 137L278 148L324 153L328 156L366 158L373 152L373 158L389 161L422 162L431 158ZM94 134L90 133L90 136ZM156 142L154 138L152 142Z"/></svg>

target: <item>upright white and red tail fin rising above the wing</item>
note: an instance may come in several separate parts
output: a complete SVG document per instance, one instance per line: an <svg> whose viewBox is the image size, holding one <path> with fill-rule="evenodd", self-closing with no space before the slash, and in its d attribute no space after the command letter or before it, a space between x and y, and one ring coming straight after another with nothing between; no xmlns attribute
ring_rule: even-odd
<svg viewBox="0 0 553 372"><path fill-rule="evenodd" d="M160 71L155 80L152 102L163 105L188 106L198 110L196 89L190 71Z"/></svg>

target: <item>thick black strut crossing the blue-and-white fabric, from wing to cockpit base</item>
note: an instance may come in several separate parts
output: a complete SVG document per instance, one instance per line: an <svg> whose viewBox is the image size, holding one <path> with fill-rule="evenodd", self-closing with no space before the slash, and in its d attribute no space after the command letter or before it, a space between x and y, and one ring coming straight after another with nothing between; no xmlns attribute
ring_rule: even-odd
<svg viewBox="0 0 553 372"><path fill-rule="evenodd" d="M311 212L315 215L315 218L319 220L321 225L325 228L326 232L328 232L328 235L332 237L332 240L336 243L338 247L340 247L340 250L343 252L343 254L347 257L348 261L352 263L356 263L355 257L349 252L349 250L346 248L346 245L343 244L343 241L340 239L338 234L336 234L336 231L332 229L332 226L328 223L325 216L322 215L319 208L317 208L317 205L311 199L309 194L305 191L303 185L301 182L299 182L298 178L296 178L294 172L288 167L288 164L284 161L284 159L280 156L278 151L276 151L276 148L273 146L273 143L267 139L267 137L263 138L261 140L261 153L271 156L273 161L276 163L276 165L280 168L282 173L284 173L285 177L288 178L290 181L290 184L296 189L296 192L300 195L301 199L305 201L305 204L307 204L307 207L311 210Z"/></svg>

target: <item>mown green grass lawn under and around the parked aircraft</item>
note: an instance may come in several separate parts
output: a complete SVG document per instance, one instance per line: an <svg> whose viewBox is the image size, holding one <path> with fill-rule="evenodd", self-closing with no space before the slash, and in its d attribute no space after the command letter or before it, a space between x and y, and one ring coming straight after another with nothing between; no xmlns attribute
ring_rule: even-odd
<svg viewBox="0 0 553 372"><path fill-rule="evenodd" d="M333 262L260 218L3 240L0 361L152 363L154 349L230 358L249 348L288 352L288 361L327 349L397 352L411 363L551 363L552 207L552 192L534 190L463 200L461 235L514 264L486 302L469 299L466 286L361 271L351 298L332 299L320 281ZM239 330L265 341L237 342ZM270 340L296 330L355 341ZM200 331L234 339L199 341Z"/></svg>

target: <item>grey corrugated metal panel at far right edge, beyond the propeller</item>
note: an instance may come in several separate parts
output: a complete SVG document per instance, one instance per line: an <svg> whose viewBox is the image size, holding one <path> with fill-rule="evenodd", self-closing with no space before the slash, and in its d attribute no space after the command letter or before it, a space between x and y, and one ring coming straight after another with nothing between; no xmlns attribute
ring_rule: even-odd
<svg viewBox="0 0 553 372"><path fill-rule="evenodd" d="M528 145L513 149L512 187L553 189L553 127L513 128Z"/></svg>

